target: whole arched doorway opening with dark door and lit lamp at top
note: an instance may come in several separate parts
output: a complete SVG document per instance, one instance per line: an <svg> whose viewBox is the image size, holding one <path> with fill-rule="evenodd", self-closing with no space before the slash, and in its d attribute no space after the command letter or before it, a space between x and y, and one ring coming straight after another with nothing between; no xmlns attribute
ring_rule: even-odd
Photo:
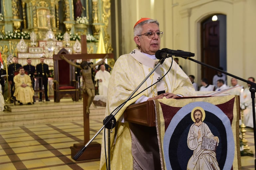
<svg viewBox="0 0 256 170"><path fill-rule="evenodd" d="M201 62L213 67L221 66L226 70L226 16L215 14L217 21L212 21L209 16L201 22ZM207 78L212 84L216 71L206 66L201 66L201 78Z"/></svg>

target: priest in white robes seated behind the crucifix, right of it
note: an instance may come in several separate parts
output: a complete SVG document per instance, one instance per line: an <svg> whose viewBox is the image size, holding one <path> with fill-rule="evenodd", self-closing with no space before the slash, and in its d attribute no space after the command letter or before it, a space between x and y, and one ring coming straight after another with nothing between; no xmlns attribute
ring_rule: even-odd
<svg viewBox="0 0 256 170"><path fill-rule="evenodd" d="M107 96L107 88L109 83L110 73L105 70L105 65L100 65L100 70L96 72L94 80L98 80L99 95Z"/></svg>

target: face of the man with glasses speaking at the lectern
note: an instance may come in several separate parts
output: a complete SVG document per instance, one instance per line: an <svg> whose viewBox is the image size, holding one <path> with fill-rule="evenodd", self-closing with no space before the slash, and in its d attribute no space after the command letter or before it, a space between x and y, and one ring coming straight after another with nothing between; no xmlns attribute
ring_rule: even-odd
<svg viewBox="0 0 256 170"><path fill-rule="evenodd" d="M160 30L156 23L148 23L142 25L141 34L157 31ZM154 55L156 51L160 49L160 37L157 34L155 34L153 38L148 38L147 35L135 36L134 41L140 48L141 52L149 55Z"/></svg>

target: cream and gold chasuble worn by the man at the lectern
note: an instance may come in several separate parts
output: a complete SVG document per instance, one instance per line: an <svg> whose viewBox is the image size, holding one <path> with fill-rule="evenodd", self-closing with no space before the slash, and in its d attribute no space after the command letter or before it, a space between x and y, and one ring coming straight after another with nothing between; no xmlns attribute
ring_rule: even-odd
<svg viewBox="0 0 256 170"><path fill-rule="evenodd" d="M132 94L134 89L139 86L139 84L151 72L158 61L158 59L150 59L141 53L138 49L134 49L131 53L122 55L118 58L113 67L109 80L105 116L109 115ZM154 84L168 71L171 64L171 58L167 58L164 63L161 64L146 80L146 82L143 83L135 95L150 85ZM126 107L133 104L142 95L147 97L154 97L157 96L158 91L165 91L183 96L196 96L195 90L189 77L176 62L173 62L169 73L167 73L161 82L158 82L156 85L148 88L135 98L128 101L115 115L117 125L110 137L111 169L133 169L133 156L131 152L131 134L129 124L125 121L118 121L119 118L122 118L122 114ZM105 134L107 139L107 132ZM106 169L104 137L102 139L100 169Z"/></svg>

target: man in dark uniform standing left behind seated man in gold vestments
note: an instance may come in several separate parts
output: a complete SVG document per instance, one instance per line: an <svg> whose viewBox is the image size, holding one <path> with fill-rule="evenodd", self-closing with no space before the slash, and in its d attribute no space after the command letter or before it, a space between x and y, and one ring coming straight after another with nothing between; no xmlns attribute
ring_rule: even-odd
<svg viewBox="0 0 256 170"><path fill-rule="evenodd" d="M13 77L15 76L14 72L22 66L21 64L18 63L18 57L16 56L13 56L12 62L13 63L8 66L8 81L11 84L11 97L13 98L13 94L15 91L14 82L13 82Z"/></svg>

